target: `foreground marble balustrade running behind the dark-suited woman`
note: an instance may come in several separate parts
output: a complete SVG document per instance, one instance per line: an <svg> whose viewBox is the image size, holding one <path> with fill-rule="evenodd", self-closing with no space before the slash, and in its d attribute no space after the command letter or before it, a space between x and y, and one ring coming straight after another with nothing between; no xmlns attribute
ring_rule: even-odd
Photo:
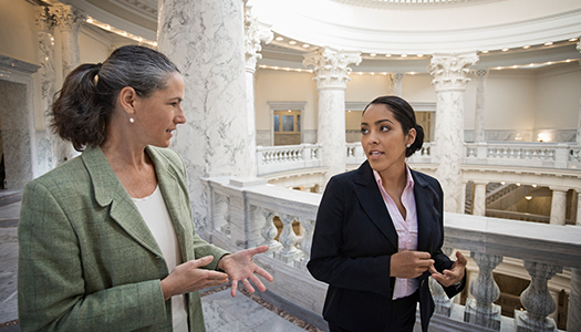
<svg viewBox="0 0 581 332"><path fill-rule="evenodd" d="M260 178L204 178L208 197L206 229L214 243L237 250L267 243L270 250L256 261L274 277L268 288L274 294L314 313L321 313L326 286L305 270L321 195L267 185ZM274 218L282 230L274 227ZM557 331L549 318L554 300L548 281L563 269L581 269L581 227L556 226L459 214L444 215L447 252L449 248L470 252L479 276L468 289L466 307L450 303L433 291L437 314L430 331ZM301 237L293 230L299 222ZM498 298L492 271L504 258L520 259L532 280L521 294L526 310L515 319L500 317L492 301ZM578 289L574 279L571 289ZM432 286L434 289L436 286ZM438 298L439 297L439 298ZM577 292L571 303L579 305ZM452 308L452 309L450 309ZM455 312L460 314L455 314ZM581 308L570 308L569 331L578 331ZM573 313L573 314L571 314ZM572 320L577 321L572 321Z"/></svg>

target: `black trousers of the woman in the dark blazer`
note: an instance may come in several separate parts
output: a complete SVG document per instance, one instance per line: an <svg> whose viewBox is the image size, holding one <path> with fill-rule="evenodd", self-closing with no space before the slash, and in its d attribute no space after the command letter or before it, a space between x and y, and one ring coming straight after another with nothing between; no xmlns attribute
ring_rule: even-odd
<svg viewBox="0 0 581 332"><path fill-rule="evenodd" d="M388 324L385 328L376 331L351 331L342 329L341 326L329 323L330 332L413 332L416 323L416 307L417 300L419 299L418 291L414 294L394 300L391 312L385 314L390 315Z"/></svg>

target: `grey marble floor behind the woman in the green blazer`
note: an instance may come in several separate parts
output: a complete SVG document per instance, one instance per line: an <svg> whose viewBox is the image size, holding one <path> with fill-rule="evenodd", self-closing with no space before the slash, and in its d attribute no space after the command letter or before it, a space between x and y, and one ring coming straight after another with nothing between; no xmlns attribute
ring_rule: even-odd
<svg viewBox="0 0 581 332"><path fill-rule="evenodd" d="M0 332L20 331L17 311L17 225L20 194L0 190ZM201 292L208 332L299 332L320 330L241 291L230 297L228 286Z"/></svg>

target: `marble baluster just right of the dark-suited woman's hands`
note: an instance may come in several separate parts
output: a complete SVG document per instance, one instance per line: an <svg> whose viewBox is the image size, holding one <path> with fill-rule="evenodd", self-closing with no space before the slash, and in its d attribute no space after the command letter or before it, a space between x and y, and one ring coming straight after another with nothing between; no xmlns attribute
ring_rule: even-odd
<svg viewBox="0 0 581 332"><path fill-rule="evenodd" d="M492 278L492 270L502 262L502 257L481 252L470 252L470 257L479 271L469 286L474 299L466 300L464 321L500 331L500 305L492 303L500 297L500 289Z"/></svg>

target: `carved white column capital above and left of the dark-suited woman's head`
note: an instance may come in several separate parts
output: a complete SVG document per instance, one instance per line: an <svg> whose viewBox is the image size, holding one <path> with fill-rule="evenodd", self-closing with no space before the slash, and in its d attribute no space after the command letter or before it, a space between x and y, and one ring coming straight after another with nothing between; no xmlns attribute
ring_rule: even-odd
<svg viewBox="0 0 581 332"><path fill-rule="evenodd" d="M302 64L314 68L317 89L342 89L344 90L351 80L349 65L361 63L361 52L343 51L331 48L320 48L304 55Z"/></svg>

